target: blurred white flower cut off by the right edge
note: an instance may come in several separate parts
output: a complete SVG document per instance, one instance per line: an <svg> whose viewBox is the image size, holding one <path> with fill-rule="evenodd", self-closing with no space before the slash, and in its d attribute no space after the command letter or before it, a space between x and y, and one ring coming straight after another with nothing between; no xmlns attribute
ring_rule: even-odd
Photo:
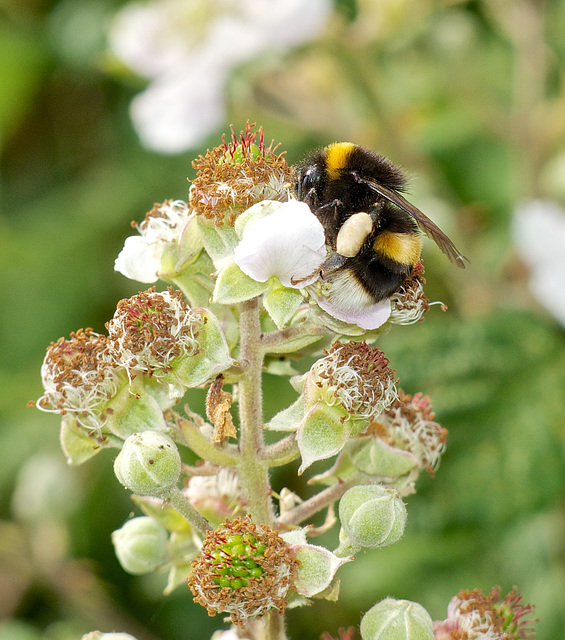
<svg viewBox="0 0 565 640"><path fill-rule="evenodd" d="M533 297L565 327L565 211L550 200L525 202L514 212L513 236Z"/></svg>

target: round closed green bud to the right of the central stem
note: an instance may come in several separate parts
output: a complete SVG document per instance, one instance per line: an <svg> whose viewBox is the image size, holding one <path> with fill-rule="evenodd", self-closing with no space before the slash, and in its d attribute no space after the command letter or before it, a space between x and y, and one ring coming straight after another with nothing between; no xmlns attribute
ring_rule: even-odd
<svg viewBox="0 0 565 640"><path fill-rule="evenodd" d="M376 549L400 540L407 513L395 489L370 484L352 487L343 495L339 517L354 545Z"/></svg>

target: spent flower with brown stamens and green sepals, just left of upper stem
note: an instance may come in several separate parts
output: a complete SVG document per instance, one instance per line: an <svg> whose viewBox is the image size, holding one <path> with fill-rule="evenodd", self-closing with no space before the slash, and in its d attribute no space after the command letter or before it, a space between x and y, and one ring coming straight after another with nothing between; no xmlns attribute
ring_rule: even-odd
<svg viewBox="0 0 565 640"><path fill-rule="evenodd" d="M190 308L172 287L121 300L106 326L112 357L130 378L136 373L155 377L169 383L174 394L203 384L231 364L213 314Z"/></svg>

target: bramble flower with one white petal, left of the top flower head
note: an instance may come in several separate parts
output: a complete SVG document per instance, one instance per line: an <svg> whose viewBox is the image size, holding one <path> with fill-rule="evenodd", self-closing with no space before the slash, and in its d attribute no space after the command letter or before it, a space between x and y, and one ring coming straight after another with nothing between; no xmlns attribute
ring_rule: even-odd
<svg viewBox="0 0 565 640"><path fill-rule="evenodd" d="M163 271L163 253L178 245L189 217L188 205L182 200L155 204L141 224L132 223L140 235L126 238L115 270L138 282L156 282Z"/></svg>

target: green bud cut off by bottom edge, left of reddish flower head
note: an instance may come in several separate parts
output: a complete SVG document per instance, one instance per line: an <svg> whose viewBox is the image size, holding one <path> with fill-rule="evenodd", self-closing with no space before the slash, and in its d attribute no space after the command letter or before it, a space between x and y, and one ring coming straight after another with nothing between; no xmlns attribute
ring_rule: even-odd
<svg viewBox="0 0 565 640"><path fill-rule="evenodd" d="M361 619L363 640L434 640L430 614L417 602L386 598Z"/></svg>

